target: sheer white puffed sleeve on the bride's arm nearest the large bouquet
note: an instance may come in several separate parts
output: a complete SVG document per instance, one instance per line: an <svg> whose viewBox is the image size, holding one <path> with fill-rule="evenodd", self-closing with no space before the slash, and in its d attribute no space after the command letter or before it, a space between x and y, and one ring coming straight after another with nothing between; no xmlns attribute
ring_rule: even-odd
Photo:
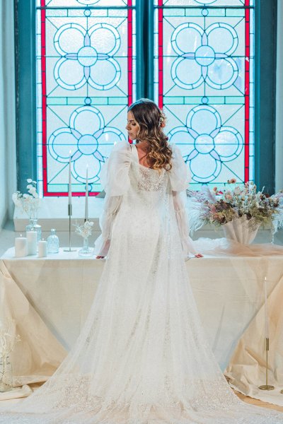
<svg viewBox="0 0 283 424"><path fill-rule="evenodd" d="M172 145L172 151L172 168L169 171L169 178L183 252L185 257L188 257L189 254L197 254L194 242L189 235L189 222L187 218L187 211L185 210L185 204L187 201L185 190L188 187L191 176L190 170L185 165L185 161L183 160L180 150L174 144Z"/></svg>

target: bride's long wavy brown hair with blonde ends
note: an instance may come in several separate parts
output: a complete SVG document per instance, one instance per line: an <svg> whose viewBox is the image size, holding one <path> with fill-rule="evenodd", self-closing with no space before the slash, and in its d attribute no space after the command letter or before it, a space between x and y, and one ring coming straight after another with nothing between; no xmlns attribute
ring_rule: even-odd
<svg viewBox="0 0 283 424"><path fill-rule="evenodd" d="M148 141L146 155L149 165L154 170L165 168L171 170L172 150L168 137L163 133L166 117L159 107L149 99L139 99L129 106L128 111L134 115L139 124L137 140Z"/></svg>

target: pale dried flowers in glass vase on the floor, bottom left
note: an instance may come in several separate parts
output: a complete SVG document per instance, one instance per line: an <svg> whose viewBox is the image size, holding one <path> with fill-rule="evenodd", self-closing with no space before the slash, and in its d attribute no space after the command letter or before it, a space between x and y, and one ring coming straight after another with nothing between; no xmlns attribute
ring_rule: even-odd
<svg viewBox="0 0 283 424"><path fill-rule="evenodd" d="M0 326L0 391L8 391L13 388L13 372L9 355L16 343L21 341L18 334L13 332L13 319L6 319Z"/></svg>

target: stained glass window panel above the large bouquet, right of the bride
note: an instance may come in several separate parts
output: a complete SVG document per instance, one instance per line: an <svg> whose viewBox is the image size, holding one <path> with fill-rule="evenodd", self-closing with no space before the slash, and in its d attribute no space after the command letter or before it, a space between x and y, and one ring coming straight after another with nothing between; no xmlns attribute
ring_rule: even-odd
<svg viewBox="0 0 283 424"><path fill-rule="evenodd" d="M254 179L253 0L154 0L154 97L192 186Z"/></svg>

